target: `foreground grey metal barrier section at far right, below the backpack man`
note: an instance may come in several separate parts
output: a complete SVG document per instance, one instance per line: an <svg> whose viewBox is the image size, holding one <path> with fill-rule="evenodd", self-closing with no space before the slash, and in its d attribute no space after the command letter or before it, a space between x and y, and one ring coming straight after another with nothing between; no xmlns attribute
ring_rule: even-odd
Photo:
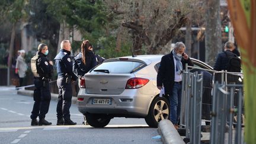
<svg viewBox="0 0 256 144"><path fill-rule="evenodd" d="M244 143L242 133L242 85L239 84L216 84L213 87L213 110L212 127L210 133L211 143ZM228 88L228 91L226 89ZM238 89L238 105L234 103L235 91ZM237 123L233 123L234 114L237 113ZM228 122L228 136L225 140L226 124ZM235 135L233 134L233 124L236 124ZM235 139L233 140L233 137Z"/></svg>

